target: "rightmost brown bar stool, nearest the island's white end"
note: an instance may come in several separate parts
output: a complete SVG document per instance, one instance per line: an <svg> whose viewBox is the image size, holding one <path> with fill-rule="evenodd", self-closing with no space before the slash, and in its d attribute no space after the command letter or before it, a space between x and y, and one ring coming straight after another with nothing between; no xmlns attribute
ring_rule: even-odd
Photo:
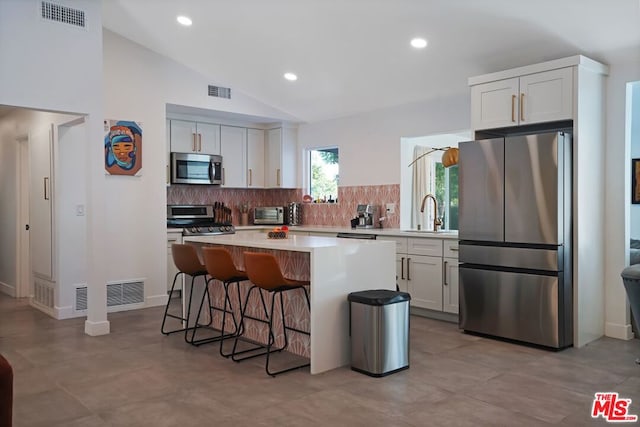
<svg viewBox="0 0 640 427"><path fill-rule="evenodd" d="M311 304L309 302L309 294L307 292L306 286L309 286L308 281L299 281L299 280L291 280L287 279L282 275L282 271L280 270L280 266L278 261L272 254L267 253L255 253L255 252L245 252L244 253L244 266L247 271L247 276L249 276L249 280L253 283L251 289L247 293L247 297L245 299L244 306L242 308L242 316L240 318L241 327L244 323L245 311L247 308L247 303L249 301L249 296L254 289L258 289L260 295L262 297L262 291L269 292L271 294L271 307L267 318L267 323L269 324L269 337L267 339L266 346L261 346L261 348L265 348L266 351L260 353L259 355L266 354L267 360L265 363L265 370L268 375L275 377L278 374L282 374L284 372L289 372L294 369L304 368L310 366L310 363L304 363L301 365L292 366L286 369L282 369L279 371L272 371L269 368L269 356L271 353L279 352L287 348L289 345L289 340L287 338L287 331L295 331L298 333L302 333L305 335L310 335L309 331L302 331L290 326L287 326L285 322L284 315L284 301L282 298L283 292L290 292L295 289L302 289L304 292L304 296L307 300L307 307L311 310ZM275 343L275 335L273 333L273 315L274 315L274 306L275 306L275 298L276 295L280 296L280 314L282 316L282 328L284 334L284 344L282 347L273 348L273 344ZM264 304L264 300L263 300ZM266 311L266 307L265 307ZM236 349L236 344L238 342L238 337L236 337L236 341L234 343L234 354ZM258 355L256 355L258 356ZM253 356L250 356L253 357ZM234 359L236 360L236 359Z"/></svg>

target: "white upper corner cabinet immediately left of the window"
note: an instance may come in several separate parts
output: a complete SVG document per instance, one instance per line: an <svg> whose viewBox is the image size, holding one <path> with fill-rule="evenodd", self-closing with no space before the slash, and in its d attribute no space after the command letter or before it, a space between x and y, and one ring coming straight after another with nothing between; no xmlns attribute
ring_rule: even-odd
<svg viewBox="0 0 640 427"><path fill-rule="evenodd" d="M265 186L296 188L297 130L287 127L269 129L265 150Z"/></svg>

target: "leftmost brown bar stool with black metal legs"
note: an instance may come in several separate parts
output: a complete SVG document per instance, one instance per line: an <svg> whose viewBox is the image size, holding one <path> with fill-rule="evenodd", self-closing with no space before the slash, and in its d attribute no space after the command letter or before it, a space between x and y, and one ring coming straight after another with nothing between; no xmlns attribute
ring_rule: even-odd
<svg viewBox="0 0 640 427"><path fill-rule="evenodd" d="M193 299L193 285L196 277L206 276L207 269L200 262L200 258L198 258L198 253L196 252L196 248L191 245L185 245L182 243L174 243L171 245L171 255L173 256L173 262L178 267L178 272L173 277L173 284L171 285L171 291L169 292L169 300L167 301L167 305L164 308L164 317L162 318L162 327L160 328L160 332L164 335L173 334L174 332L184 332L185 341L189 342L187 338L187 333L189 329L198 327L196 323L195 326L189 327L189 317L191 316L191 301ZM180 304L180 315L169 313L169 307L171 306L171 296L173 295L173 291L176 287L176 281L178 280L178 276L181 274L186 274L187 276L191 276L191 292L189 292L189 305L187 306L187 315L184 316L184 311L182 310L182 303ZM206 294L208 295L208 294ZM171 317L173 319L178 319L183 322L183 327L174 329L171 331L166 331L164 326L167 321L167 317Z"/></svg>

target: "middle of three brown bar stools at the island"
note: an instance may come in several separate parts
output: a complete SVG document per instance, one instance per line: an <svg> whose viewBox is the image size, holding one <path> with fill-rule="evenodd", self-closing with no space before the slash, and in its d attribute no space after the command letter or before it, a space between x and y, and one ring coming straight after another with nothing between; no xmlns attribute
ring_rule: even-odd
<svg viewBox="0 0 640 427"><path fill-rule="evenodd" d="M229 285L235 283L237 287L238 293L238 311L240 311L240 282L249 280L247 274L238 270L233 262L233 257L231 253L222 247L205 247L202 248L202 257L204 258L204 265L207 269L207 273L209 274L209 279L207 280L207 288L205 289L205 293L202 294L202 300L200 301L200 308L198 309L198 317L200 319L200 315L202 314L202 308L204 307L204 301L207 299L209 301L209 319L213 320L213 315L216 311L222 312L222 323L220 334L214 337L201 338L196 340L196 331L199 328L194 328L191 333L190 342L194 345L201 345L210 342L220 341L220 354L224 357L229 357L231 353L225 353L223 350L223 344L225 338L231 338L236 336L241 332L239 328L238 320L236 320L236 315L233 312L233 305L231 304L231 299L229 298ZM224 307L217 307L211 303L211 297L209 295L209 283L213 281L222 282L224 287ZM227 323L227 314L231 315L231 319L234 325L234 331L229 334L225 334L225 325ZM210 322L211 323L211 322ZM198 325L196 325L198 326Z"/></svg>

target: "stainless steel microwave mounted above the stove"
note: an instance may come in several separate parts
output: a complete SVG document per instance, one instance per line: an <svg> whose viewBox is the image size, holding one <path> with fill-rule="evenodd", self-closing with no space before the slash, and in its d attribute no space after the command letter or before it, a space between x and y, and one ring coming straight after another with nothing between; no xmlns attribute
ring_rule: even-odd
<svg viewBox="0 0 640 427"><path fill-rule="evenodd" d="M222 156L171 153L172 184L222 184Z"/></svg>

